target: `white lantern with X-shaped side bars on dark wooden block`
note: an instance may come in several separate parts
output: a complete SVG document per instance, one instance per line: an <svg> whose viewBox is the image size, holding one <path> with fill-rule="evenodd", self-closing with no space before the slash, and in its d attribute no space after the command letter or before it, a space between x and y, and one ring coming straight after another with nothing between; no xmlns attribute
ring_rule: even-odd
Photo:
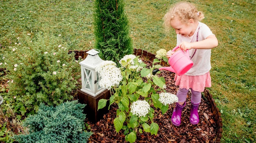
<svg viewBox="0 0 256 143"><path fill-rule="evenodd" d="M99 86L100 75L95 71L95 68L103 60L98 56L99 51L97 49L92 49L86 53L88 56L79 63L81 65L82 76L81 91L95 97L105 90L105 88Z"/></svg>

